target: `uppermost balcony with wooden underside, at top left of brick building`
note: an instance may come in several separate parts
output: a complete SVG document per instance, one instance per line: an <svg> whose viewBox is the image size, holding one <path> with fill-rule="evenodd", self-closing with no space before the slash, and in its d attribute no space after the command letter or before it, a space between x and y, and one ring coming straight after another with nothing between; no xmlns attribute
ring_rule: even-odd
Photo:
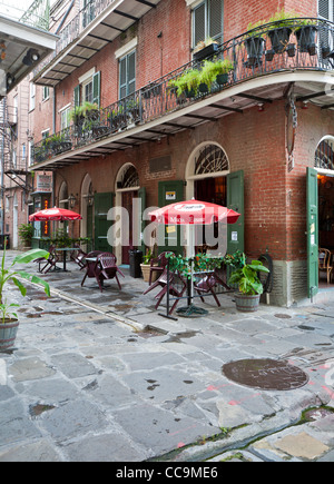
<svg viewBox="0 0 334 484"><path fill-rule="evenodd" d="M59 32L60 39L53 56L38 66L33 81L43 86L57 86L159 1L105 0L100 2L102 7L99 2L89 2L92 10L86 7Z"/></svg>

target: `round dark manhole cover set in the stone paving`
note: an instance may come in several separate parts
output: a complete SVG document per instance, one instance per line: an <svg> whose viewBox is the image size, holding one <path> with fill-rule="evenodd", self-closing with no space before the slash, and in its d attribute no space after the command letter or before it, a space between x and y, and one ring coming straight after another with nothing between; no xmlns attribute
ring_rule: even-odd
<svg viewBox="0 0 334 484"><path fill-rule="evenodd" d="M261 389L295 389L308 382L301 368L275 359L239 359L224 365L222 372L235 383Z"/></svg>

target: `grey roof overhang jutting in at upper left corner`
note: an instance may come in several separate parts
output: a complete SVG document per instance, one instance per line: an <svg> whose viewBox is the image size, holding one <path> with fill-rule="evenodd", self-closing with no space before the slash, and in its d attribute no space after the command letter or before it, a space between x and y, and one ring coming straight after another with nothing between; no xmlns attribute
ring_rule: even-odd
<svg viewBox="0 0 334 484"><path fill-rule="evenodd" d="M0 16L0 39L6 46L6 58L0 63L3 79L0 97L3 98L32 71L38 62L42 61L56 49L58 37ZM23 58L30 49L37 52L38 60L28 66L23 63ZM7 79L11 81L7 82Z"/></svg>

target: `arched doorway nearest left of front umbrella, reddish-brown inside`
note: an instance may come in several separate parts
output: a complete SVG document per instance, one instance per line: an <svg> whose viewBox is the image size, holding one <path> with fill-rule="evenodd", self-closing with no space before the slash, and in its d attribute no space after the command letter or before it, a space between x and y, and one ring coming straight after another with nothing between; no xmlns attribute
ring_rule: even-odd
<svg viewBox="0 0 334 484"><path fill-rule="evenodd" d="M121 213L120 220L121 244L115 248L117 260L121 260L121 264L129 264L129 249L138 246L137 228L140 214L135 200L140 196L139 190L139 176L136 167L131 164L124 165L116 177L115 189L116 207L122 207L126 210Z"/></svg>

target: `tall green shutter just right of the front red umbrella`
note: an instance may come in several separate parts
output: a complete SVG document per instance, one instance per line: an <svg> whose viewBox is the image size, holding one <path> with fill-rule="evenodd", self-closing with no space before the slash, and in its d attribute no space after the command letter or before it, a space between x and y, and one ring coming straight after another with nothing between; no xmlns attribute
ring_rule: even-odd
<svg viewBox="0 0 334 484"><path fill-rule="evenodd" d="M227 208L240 214L236 224L227 225L227 253L244 251L244 171L227 175Z"/></svg>

